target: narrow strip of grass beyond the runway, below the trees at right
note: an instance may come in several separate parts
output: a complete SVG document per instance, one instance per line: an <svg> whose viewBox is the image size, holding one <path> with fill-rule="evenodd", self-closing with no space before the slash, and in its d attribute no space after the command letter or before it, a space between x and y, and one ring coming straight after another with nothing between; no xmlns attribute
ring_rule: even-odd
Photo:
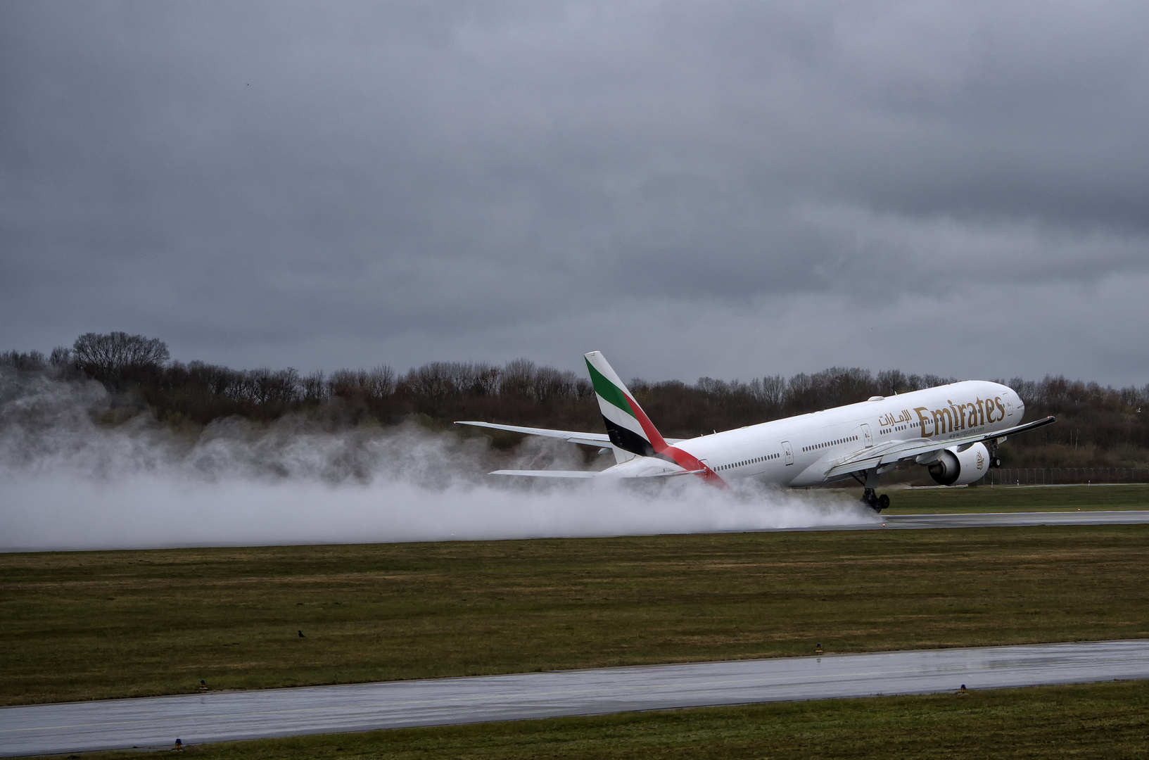
<svg viewBox="0 0 1149 760"><path fill-rule="evenodd" d="M967 512L1074 512L1149 509L1149 484L1015 486L966 489L880 489L888 493L882 514Z"/></svg>

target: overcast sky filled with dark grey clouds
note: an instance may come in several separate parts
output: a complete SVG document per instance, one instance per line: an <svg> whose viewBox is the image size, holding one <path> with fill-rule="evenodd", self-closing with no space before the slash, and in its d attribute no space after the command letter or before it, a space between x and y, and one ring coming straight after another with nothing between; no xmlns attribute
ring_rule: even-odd
<svg viewBox="0 0 1149 760"><path fill-rule="evenodd" d="M0 3L0 350L1149 382L1144 2Z"/></svg>

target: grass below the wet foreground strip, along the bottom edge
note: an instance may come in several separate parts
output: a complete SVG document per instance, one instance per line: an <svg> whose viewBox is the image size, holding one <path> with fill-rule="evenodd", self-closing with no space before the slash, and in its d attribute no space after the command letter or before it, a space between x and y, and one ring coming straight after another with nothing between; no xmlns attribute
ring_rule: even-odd
<svg viewBox="0 0 1149 760"><path fill-rule="evenodd" d="M1143 758L1149 681L773 703L193 746L188 757ZM172 737L175 739L175 737ZM164 750L167 752L167 750ZM139 752L101 752L129 760Z"/></svg>

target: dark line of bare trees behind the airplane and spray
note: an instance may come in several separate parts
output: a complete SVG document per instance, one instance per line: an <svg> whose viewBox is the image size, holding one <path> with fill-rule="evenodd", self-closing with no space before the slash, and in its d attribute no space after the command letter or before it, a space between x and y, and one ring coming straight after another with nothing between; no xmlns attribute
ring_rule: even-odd
<svg viewBox="0 0 1149 760"><path fill-rule="evenodd" d="M170 425L202 427L229 416L270 422L298 414L329 429L410 419L437 428L455 420L601 428L586 377L526 359L502 366L435 361L403 374L380 364L301 375L292 368L238 370L171 361L167 345L157 338L88 332L48 356L34 351L0 354L0 367L62 379L95 379L113 394L114 406L149 413ZM702 377L693 384L637 378L629 385L664 435L686 438L949 382L954 378L832 367L789 378ZM1007 444L1003 454L1011 466L1149 466L1149 384L1113 389L1064 377L1013 378L1008 384L1025 402L1027 419L1058 417L1057 424ZM511 435L494 438L503 446L517 440Z"/></svg>

